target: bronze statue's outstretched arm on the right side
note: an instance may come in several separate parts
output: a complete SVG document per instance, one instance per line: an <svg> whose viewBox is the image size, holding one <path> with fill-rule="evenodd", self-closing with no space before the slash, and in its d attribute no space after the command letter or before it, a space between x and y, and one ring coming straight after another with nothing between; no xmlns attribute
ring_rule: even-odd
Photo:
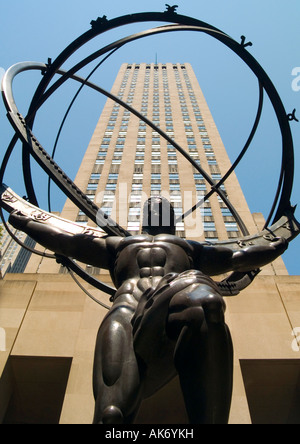
<svg viewBox="0 0 300 444"><path fill-rule="evenodd" d="M195 267L202 272L215 276L229 271L247 272L267 265L281 256L288 248L284 238L270 242L269 245L249 246L233 251L223 246L206 246L193 242Z"/></svg>

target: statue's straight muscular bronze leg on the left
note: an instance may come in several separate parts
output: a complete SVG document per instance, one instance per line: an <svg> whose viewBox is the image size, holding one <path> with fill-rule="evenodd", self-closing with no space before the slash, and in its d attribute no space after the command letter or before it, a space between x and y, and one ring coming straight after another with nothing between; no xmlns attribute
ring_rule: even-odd
<svg viewBox="0 0 300 444"><path fill-rule="evenodd" d="M140 371L133 350L128 307L115 307L104 319L94 358L95 424L130 424L140 404Z"/></svg>

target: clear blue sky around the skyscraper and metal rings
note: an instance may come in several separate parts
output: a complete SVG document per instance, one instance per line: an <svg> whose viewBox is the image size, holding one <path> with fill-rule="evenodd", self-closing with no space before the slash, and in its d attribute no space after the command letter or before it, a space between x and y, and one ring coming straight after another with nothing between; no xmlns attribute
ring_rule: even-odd
<svg viewBox="0 0 300 444"><path fill-rule="evenodd" d="M108 19L112 19L129 13L165 10L165 3L157 0L152 0L151 3L143 0L86 0L84 3L79 0L0 1L0 75L3 70L20 61L47 62L48 57L55 59L70 42L87 31L91 20L98 16L106 15ZM300 120L299 0L177 0L176 4L179 5L180 14L212 24L238 41L241 35L252 41L253 46L248 50L275 84L287 113L296 108ZM70 63L109 41L156 25L138 24L113 31L95 39L75 55ZM257 81L234 54L213 39L192 33L172 33L143 39L118 51L92 80L110 89L121 63L151 63L155 62L156 57L158 62L190 62L193 65L230 158L234 160L244 146L253 125L258 100ZM82 74L88 73L93 66L89 66ZM299 70L295 70L297 67ZM15 80L16 101L24 114L40 78L40 74L34 72L25 73ZM77 85L68 84L39 114L35 126L36 135L49 152L52 151L60 120L77 88ZM103 103L104 99L101 96L87 90L80 95L72 109L56 157L57 162L71 177L76 174ZM296 164L292 204L300 204L300 123L292 122L291 128ZM12 135L1 103L1 157ZM265 217L268 215L274 187L277 185L280 151L278 125L266 100L261 125L251 151L237 170L251 211L262 212ZM47 209L47 180L38 168L34 169L34 180L40 206ZM22 195L20 146L17 147L5 181ZM59 211L64 200L64 196L53 189L53 209ZM299 220L299 208L296 210L296 216ZM300 274L299 246L298 238L284 255L290 274Z"/></svg>

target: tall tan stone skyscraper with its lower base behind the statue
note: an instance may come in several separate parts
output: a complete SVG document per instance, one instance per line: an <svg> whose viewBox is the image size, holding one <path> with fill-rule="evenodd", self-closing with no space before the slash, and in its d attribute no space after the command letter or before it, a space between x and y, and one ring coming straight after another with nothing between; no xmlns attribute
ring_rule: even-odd
<svg viewBox="0 0 300 444"><path fill-rule="evenodd" d="M130 110L108 100L76 184L132 234L140 233L144 201L163 195L174 206L178 236L203 242L238 238L240 227L224 200L217 193L203 199L231 164L192 67L124 64L112 94L152 121L167 140ZM211 182L172 140L201 165ZM220 188L250 234L257 233L263 218L251 214L235 174ZM198 210L182 220L181 215L199 201ZM93 225L69 200L61 216ZM86 270L110 280L105 271L88 265ZM43 400L34 388L33 375L39 374L45 392L45 381L55 388L48 401L53 407L49 422L90 423L93 350L106 310L86 297L59 264L38 256L31 258L23 274L7 275L0 284L0 325L7 341L0 354L3 422L45 421L47 412L42 413ZM96 298L108 299L87 284L86 288ZM300 278L288 276L281 258L264 267L240 296L226 299L235 347L231 423L300 422L299 299ZM32 396L39 408L30 417L24 412ZM51 398L48 392L47 396ZM140 423L185 421L177 380L145 401L137 418Z"/></svg>

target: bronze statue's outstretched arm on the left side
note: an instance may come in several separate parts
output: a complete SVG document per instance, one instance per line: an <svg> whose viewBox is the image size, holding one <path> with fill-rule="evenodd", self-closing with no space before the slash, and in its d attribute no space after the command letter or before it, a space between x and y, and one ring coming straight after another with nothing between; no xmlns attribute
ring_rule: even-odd
<svg viewBox="0 0 300 444"><path fill-rule="evenodd" d="M37 243L58 255L67 256L95 267L109 268L110 253L106 237L69 234L35 221L17 211L11 213L9 222L13 227L25 232Z"/></svg>

